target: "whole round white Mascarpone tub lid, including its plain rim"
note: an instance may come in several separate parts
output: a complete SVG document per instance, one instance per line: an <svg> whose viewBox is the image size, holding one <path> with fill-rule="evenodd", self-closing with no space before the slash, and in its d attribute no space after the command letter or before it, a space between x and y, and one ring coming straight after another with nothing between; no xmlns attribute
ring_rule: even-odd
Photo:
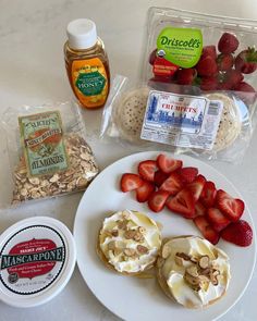
<svg viewBox="0 0 257 321"><path fill-rule="evenodd" d="M22 220L0 236L0 299L14 307L35 307L58 295L76 261L75 243L60 221Z"/></svg>

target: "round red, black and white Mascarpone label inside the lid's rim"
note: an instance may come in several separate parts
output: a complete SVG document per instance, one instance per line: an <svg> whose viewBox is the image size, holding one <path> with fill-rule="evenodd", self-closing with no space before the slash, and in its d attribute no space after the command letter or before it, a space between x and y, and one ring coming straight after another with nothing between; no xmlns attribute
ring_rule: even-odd
<svg viewBox="0 0 257 321"><path fill-rule="evenodd" d="M66 261L62 236L50 226L33 225L12 235L0 252L0 282L9 291L29 295L45 291Z"/></svg>

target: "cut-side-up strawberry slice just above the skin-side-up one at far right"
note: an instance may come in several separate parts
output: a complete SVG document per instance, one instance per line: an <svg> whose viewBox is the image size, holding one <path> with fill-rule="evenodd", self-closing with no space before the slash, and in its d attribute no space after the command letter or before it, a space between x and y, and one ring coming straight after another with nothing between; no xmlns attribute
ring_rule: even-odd
<svg viewBox="0 0 257 321"><path fill-rule="evenodd" d="M222 213L233 222L237 221L244 212L245 205L243 200L233 198L222 189L217 192L216 202Z"/></svg>

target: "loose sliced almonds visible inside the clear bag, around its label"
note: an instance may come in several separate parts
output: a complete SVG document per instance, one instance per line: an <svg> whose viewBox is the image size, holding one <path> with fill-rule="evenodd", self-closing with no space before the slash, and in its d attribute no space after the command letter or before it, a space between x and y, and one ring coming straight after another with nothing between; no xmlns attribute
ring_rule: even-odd
<svg viewBox="0 0 257 321"><path fill-rule="evenodd" d="M98 166L84 138L68 134L63 140L70 160L69 169L60 173L28 177L25 160L22 158L14 172L12 203L83 190L97 175Z"/></svg>

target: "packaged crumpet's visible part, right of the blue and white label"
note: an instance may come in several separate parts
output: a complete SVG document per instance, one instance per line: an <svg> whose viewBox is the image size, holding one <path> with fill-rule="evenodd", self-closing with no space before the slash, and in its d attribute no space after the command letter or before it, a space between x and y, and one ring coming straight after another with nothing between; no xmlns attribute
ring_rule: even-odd
<svg viewBox="0 0 257 321"><path fill-rule="evenodd" d="M210 100L220 100L223 102L223 110L220 118L220 124L216 136L212 150L220 151L231 146L241 133L242 123L238 110L225 94L213 92L206 95Z"/></svg>

